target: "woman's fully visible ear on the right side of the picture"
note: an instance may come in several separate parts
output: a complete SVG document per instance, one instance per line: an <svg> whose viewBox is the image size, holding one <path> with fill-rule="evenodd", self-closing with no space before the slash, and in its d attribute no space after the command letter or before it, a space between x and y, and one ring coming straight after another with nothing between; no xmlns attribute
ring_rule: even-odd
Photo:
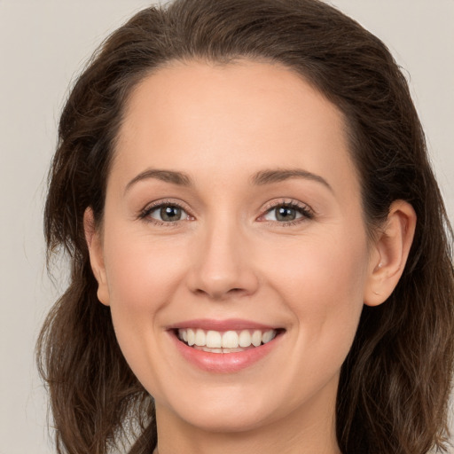
<svg viewBox="0 0 454 454"><path fill-rule="evenodd" d="M410 203L395 200L387 223L380 230L369 263L364 304L378 306L393 293L402 276L416 228L416 213Z"/></svg>

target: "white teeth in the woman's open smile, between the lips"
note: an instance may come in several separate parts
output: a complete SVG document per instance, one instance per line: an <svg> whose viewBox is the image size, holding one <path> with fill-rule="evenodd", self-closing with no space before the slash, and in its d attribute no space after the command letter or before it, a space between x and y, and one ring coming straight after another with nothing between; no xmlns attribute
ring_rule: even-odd
<svg viewBox="0 0 454 454"><path fill-rule="evenodd" d="M209 353L238 353L258 348L275 339L282 329L214 331L192 328L175 330L176 337L189 347Z"/></svg>

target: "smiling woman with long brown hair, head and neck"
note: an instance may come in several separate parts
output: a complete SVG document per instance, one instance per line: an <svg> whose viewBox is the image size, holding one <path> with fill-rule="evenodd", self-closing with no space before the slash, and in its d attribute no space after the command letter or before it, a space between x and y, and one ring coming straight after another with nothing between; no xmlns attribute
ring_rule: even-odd
<svg viewBox="0 0 454 454"><path fill-rule="evenodd" d="M356 22L139 12L75 84L51 168L58 451L447 449L448 225L403 75Z"/></svg>

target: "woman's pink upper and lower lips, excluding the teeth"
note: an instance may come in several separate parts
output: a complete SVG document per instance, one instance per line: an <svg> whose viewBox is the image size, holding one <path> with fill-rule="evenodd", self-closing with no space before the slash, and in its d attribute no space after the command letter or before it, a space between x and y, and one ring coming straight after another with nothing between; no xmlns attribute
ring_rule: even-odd
<svg viewBox="0 0 454 454"><path fill-rule="evenodd" d="M195 323L197 322L197 323ZM261 345L260 347L249 348L247 350L236 352L236 353L209 353L203 350L189 347L184 342L178 339L176 335L176 329L179 327L187 328L200 328L200 329L215 329L216 331L230 331L230 330L241 330L241 329L272 329L270 326L257 325L244 322L245 324L238 323L239 321L228 320L225 322L219 322L217 324L201 323L202 320L191 322L184 322L184 324L176 324L172 328L168 329L168 334L172 341L175 343L176 349L190 364L195 365L202 371L215 372L215 373L234 373L239 372L251 365L260 361L264 356L270 354L270 352L276 348L281 340L281 333L270 342ZM232 323L234 322L234 323ZM192 325L193 323L193 325Z"/></svg>

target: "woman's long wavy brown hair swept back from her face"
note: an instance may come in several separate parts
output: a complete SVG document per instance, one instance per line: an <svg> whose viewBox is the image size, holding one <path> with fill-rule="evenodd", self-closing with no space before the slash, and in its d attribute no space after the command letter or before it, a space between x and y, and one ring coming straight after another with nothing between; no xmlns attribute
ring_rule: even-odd
<svg viewBox="0 0 454 454"><path fill-rule="evenodd" d="M95 53L67 99L51 166L48 258L64 249L67 292L37 344L57 450L130 453L156 444L153 398L130 371L98 302L82 216L103 216L106 178L132 88L171 60L265 59L301 74L345 115L369 230L394 200L418 215L411 253L386 303L364 307L342 366L336 429L343 453L445 450L454 355L452 232L407 83L380 40L317 0L176 0L137 13ZM135 432L133 432L133 429ZM126 449L126 448L124 448Z"/></svg>

